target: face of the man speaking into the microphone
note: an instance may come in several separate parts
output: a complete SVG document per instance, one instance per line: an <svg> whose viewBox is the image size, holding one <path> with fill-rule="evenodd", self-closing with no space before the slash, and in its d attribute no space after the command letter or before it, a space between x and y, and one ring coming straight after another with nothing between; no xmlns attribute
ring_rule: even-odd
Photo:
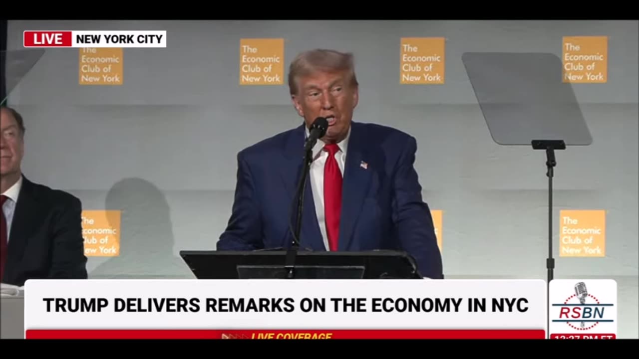
<svg viewBox="0 0 639 359"><path fill-rule="evenodd" d="M350 86L348 74L316 72L297 80L298 93L293 96L297 113L311 126L318 117L328 120L324 142L339 142L346 137L358 102L358 89Z"/></svg>

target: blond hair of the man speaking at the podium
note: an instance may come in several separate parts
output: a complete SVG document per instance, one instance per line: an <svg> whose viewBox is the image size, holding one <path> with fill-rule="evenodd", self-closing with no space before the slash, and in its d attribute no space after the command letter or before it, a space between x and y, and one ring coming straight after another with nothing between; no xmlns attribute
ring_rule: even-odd
<svg viewBox="0 0 639 359"><path fill-rule="evenodd" d="M358 86L355 76L355 61L351 52L314 49L298 54L288 72L288 88L291 95L298 92L297 80L314 72L346 72L348 84Z"/></svg>

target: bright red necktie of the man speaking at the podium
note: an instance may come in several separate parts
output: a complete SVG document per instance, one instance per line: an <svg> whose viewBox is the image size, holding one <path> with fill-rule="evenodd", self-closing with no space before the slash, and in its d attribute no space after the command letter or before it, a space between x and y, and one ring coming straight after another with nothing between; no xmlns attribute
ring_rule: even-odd
<svg viewBox="0 0 639 359"><path fill-rule="evenodd" d="M324 215L328 235L328 248L337 250L339 234L339 217L342 210L342 172L339 170L335 153L339 151L337 144L327 144L324 149L328 158L324 165Z"/></svg>

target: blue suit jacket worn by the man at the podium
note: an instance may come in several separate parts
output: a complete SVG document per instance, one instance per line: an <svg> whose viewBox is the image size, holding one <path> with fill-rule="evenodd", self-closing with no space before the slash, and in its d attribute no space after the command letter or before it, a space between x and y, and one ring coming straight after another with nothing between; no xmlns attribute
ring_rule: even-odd
<svg viewBox="0 0 639 359"><path fill-rule="evenodd" d="M217 250L289 247L289 222L294 218L291 202L302 166L304 141L302 125L238 153L235 202ZM415 151L415 138L404 132L351 123L339 250L404 250L415 258L424 277L441 279L442 257L413 167ZM326 250L308 181L300 246Z"/></svg>

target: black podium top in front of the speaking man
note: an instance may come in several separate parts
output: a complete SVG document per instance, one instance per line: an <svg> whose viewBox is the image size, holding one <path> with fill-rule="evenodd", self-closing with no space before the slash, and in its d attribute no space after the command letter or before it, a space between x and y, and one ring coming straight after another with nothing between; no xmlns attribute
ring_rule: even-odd
<svg viewBox="0 0 639 359"><path fill-rule="evenodd" d="M286 250L182 250L197 279L287 279ZM406 252L299 251L294 279L423 279Z"/></svg>

